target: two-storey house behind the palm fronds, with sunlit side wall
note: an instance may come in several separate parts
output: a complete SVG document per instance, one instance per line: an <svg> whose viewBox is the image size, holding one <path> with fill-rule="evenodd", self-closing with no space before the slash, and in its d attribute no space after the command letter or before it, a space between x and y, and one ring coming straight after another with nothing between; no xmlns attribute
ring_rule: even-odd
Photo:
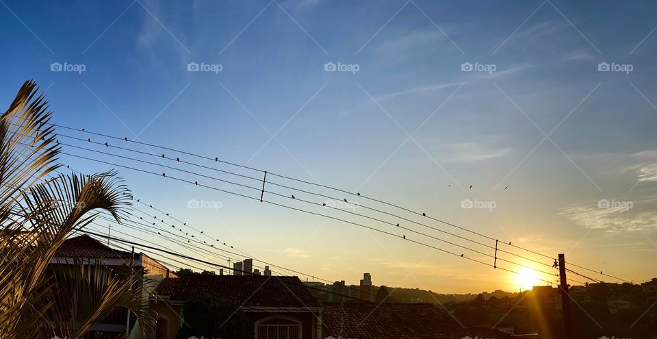
<svg viewBox="0 0 657 339"><path fill-rule="evenodd" d="M64 240L62 245L55 251L53 258L51 258L48 269L54 271L59 266L75 263L110 267L129 265L136 272L142 274L140 282L145 297L146 294L154 292L159 281L164 280L166 277L176 276L166 266L144 253L112 249L86 234ZM143 284L144 281L146 284ZM144 299L148 300L147 298ZM128 310L123 307L94 325L92 331L110 337L126 331L131 333L131 338L140 336L140 329L136 327L136 318L129 315Z"/></svg>

